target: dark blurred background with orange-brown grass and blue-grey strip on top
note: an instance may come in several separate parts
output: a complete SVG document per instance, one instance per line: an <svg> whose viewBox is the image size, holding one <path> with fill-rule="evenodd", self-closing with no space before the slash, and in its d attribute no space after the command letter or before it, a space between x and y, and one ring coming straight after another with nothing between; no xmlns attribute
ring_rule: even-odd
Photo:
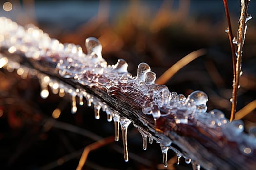
<svg viewBox="0 0 256 170"><path fill-rule="evenodd" d="M62 43L75 43L86 52L84 41L94 36L102 43L108 64L125 59L136 75L141 62L157 77L185 55L205 49L205 55L181 68L165 85L187 96L202 90L209 97L208 111L220 109L230 117L232 58L222 0L13 0L0 1L0 16L21 25L35 24ZM229 1L233 34L236 35L240 1ZM256 100L256 1L249 4L247 35L243 50L241 88L237 110ZM85 102L85 101L84 101ZM256 103L256 101L254 101ZM246 131L256 126L256 104L243 118ZM62 110L57 117L54 110ZM89 144L114 135L114 125L94 119L92 107L78 106L70 113L68 95L40 97L39 81L21 78L0 69L0 169L73 170ZM129 126L129 162L124 162L122 141L91 151L84 170L159 170L162 153L158 144L143 151L138 131ZM168 152L169 170L190 170L176 165Z"/></svg>

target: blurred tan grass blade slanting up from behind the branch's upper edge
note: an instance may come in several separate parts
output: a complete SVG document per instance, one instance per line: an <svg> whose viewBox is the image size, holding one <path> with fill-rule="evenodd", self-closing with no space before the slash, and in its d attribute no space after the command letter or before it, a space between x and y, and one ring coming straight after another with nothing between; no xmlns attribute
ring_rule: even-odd
<svg viewBox="0 0 256 170"><path fill-rule="evenodd" d="M177 61L172 67L170 67L167 71L165 71L157 80L156 84L163 85L165 84L175 73L177 73L178 70L186 66L191 61L197 59L198 57L206 54L205 49L199 49L196 51L193 51L183 57L181 60Z"/></svg>

